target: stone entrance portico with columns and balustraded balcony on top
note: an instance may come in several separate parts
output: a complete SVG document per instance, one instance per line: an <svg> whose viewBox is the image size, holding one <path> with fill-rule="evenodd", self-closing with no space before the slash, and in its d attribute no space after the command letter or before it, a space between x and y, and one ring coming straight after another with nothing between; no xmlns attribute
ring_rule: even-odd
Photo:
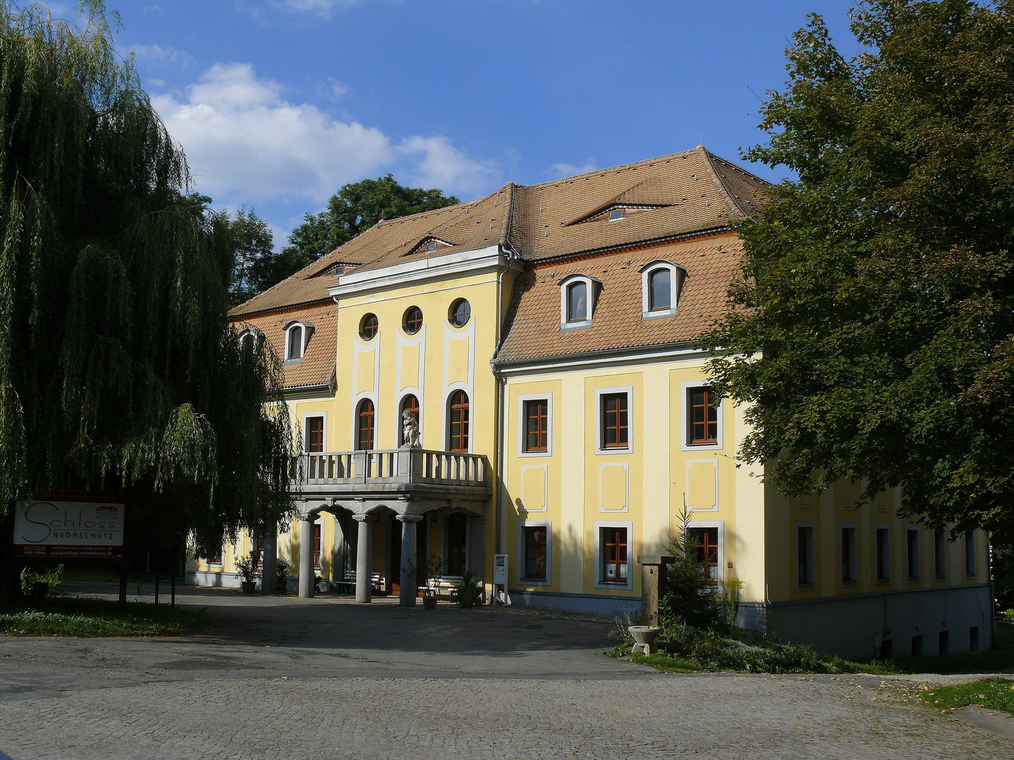
<svg viewBox="0 0 1014 760"><path fill-rule="evenodd" d="M427 518L439 515L442 524L455 526L433 553L445 558L447 567L470 568L482 579L486 505L493 495L486 456L414 447L311 452L298 457L297 467L301 597L313 595L314 559L308 549L321 512L347 526L346 538L354 534L348 553L353 555L355 571L348 577L355 578L357 602L369 602L372 595L377 526L382 531L377 541L385 554L380 564L388 574L388 588L394 588L393 578L397 578L401 604L416 604L418 553L426 547L425 535L417 536L417 524ZM266 557L274 554L265 548ZM343 566L349 559L343 558ZM267 566L264 571L267 584L270 571Z"/></svg>

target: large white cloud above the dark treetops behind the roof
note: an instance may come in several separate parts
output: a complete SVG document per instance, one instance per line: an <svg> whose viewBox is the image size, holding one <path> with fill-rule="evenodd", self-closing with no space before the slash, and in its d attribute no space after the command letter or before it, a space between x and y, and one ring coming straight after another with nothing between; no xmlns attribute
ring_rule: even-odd
<svg viewBox="0 0 1014 760"><path fill-rule="evenodd" d="M379 129L292 103L248 64L216 64L185 93L153 95L184 146L197 189L217 202L298 201L318 206L346 182L391 171L402 181L479 194L496 186L491 162L476 161L444 137L393 145Z"/></svg>

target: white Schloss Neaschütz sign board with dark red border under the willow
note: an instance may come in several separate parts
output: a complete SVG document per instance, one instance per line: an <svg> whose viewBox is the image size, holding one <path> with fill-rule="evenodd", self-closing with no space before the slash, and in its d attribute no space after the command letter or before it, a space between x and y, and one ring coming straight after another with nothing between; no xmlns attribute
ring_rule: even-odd
<svg viewBox="0 0 1014 760"><path fill-rule="evenodd" d="M124 504L118 497L61 495L16 505L15 556L118 557L123 546Z"/></svg>

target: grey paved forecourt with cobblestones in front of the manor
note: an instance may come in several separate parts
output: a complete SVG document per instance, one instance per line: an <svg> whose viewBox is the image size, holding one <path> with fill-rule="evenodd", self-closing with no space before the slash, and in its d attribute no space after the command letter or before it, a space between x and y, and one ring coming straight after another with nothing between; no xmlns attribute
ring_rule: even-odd
<svg viewBox="0 0 1014 760"><path fill-rule="evenodd" d="M196 639L0 638L0 750L37 758L1014 758L873 677L666 675L607 623L190 592Z"/></svg>

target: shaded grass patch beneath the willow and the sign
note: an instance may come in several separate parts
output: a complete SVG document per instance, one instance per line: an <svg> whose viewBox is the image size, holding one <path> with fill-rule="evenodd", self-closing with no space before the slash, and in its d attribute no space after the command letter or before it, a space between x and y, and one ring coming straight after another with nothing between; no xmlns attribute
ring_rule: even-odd
<svg viewBox="0 0 1014 760"><path fill-rule="evenodd" d="M178 636L211 624L207 611L167 604L57 597L37 607L0 611L0 635L7 636Z"/></svg>

